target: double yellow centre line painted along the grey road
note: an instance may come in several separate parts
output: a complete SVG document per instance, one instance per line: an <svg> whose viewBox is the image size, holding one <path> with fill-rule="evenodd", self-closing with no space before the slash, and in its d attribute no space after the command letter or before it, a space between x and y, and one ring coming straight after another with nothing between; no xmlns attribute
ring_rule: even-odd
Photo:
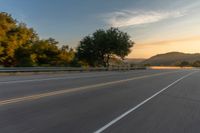
<svg viewBox="0 0 200 133"><path fill-rule="evenodd" d="M175 72L178 72L178 71L175 71ZM140 77L133 77L133 78L129 78L129 79L111 81L111 82L106 82L106 83L99 83L99 84L95 84L95 85L88 85L88 86L83 86L83 87L77 87L77 88L71 88L71 89L65 89L65 90L59 90L59 91L52 91L52 92L47 92L47 93L42 93L42 94L34 94L34 95L29 95L29 96L24 96L24 97L19 97L19 98L12 98L12 99L0 101L0 106L17 103L17 102L28 101L28 100L36 100L36 99L41 99L41 98L45 98L45 97L66 94L66 93L70 93L70 92L77 92L77 91L87 90L87 89L91 89L91 88L119 84L119 83L124 83L124 82L132 81L132 80L161 76L161 75L166 75L166 74L175 73L175 72L163 72L163 73L157 73L157 74L151 74L151 75L144 75L144 76L140 76Z"/></svg>

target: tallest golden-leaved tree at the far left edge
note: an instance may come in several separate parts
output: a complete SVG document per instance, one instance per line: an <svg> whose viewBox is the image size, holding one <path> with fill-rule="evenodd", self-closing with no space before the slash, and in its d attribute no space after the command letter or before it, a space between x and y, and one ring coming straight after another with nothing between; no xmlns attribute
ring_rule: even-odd
<svg viewBox="0 0 200 133"><path fill-rule="evenodd" d="M15 50L37 39L32 28L28 28L24 23L17 23L7 13L0 13L0 64L15 66Z"/></svg>

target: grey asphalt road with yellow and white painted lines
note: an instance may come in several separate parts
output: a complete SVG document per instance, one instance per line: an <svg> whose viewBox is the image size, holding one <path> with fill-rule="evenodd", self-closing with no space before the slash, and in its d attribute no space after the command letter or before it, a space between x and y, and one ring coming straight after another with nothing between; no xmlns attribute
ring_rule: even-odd
<svg viewBox="0 0 200 133"><path fill-rule="evenodd" d="M200 72L0 76L0 133L199 133Z"/></svg>

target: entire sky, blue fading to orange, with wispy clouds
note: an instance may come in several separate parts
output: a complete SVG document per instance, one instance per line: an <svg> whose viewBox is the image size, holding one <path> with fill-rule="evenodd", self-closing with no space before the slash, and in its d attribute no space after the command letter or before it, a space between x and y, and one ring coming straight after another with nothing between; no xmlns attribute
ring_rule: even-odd
<svg viewBox="0 0 200 133"><path fill-rule="evenodd" d="M0 0L2 11L74 48L97 29L117 27L135 42L128 58L200 53L200 0Z"/></svg>

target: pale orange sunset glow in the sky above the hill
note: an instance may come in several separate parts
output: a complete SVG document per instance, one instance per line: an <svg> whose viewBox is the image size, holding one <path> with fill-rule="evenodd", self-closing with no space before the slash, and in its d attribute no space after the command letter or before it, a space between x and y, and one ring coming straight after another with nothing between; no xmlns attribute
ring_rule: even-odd
<svg viewBox="0 0 200 133"><path fill-rule="evenodd" d="M136 43L128 58L149 58L155 54L172 51L200 53L200 36L149 43Z"/></svg>

